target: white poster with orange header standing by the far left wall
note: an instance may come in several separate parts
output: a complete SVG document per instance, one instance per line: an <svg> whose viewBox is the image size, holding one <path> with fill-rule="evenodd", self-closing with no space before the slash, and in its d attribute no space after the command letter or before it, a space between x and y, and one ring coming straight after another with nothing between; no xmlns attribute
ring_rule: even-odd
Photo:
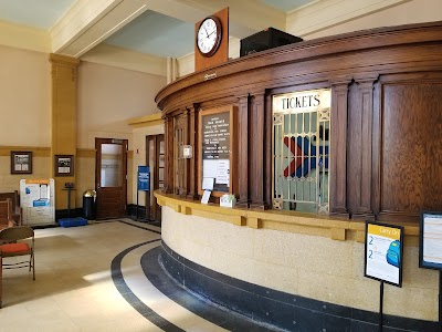
<svg viewBox="0 0 442 332"><path fill-rule="evenodd" d="M23 209L23 225L55 224L54 179L21 179L20 206Z"/></svg>

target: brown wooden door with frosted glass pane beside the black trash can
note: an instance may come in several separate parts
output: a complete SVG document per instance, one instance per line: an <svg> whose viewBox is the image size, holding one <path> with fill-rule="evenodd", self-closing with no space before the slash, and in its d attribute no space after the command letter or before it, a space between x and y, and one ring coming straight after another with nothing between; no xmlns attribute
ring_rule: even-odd
<svg viewBox="0 0 442 332"><path fill-rule="evenodd" d="M127 144L127 139L95 138L97 219L126 215Z"/></svg>

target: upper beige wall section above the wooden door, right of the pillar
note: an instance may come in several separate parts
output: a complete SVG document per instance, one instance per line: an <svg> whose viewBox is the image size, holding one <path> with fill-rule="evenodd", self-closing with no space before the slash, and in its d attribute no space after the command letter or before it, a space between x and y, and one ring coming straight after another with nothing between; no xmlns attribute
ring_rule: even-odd
<svg viewBox="0 0 442 332"><path fill-rule="evenodd" d="M155 95L166 76L82 62L78 69L77 147L95 148L95 137L127 138L127 120L157 113Z"/></svg>

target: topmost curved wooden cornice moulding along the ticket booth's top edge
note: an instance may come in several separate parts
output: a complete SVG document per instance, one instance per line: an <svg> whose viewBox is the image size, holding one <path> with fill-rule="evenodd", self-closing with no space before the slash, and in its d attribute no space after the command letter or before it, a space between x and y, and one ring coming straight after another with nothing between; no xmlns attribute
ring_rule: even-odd
<svg viewBox="0 0 442 332"><path fill-rule="evenodd" d="M364 52L372 52L376 49L380 48L390 48L392 50L397 48L401 48L403 44L412 44L412 43L435 43L439 44L440 35L442 33L442 21L439 22L430 22L430 23L419 23L419 24L407 24L400 27L388 27L388 28L378 28L378 29L369 29L362 30L351 33L344 33L339 35L332 35L327 38L320 38L309 41L303 41L299 43L294 43L281 48L271 49L267 51L259 52L249 56L243 56L234 60L230 60L227 63L223 63L217 66L215 73L217 77L214 81L219 81L220 79L224 79L227 76L233 75L243 75L242 80L239 80L236 84L243 84L243 87L248 87L250 85L257 87L262 85L262 82L255 82L254 80L250 80L249 75L244 75L246 71L250 70L266 70L271 68L275 68L278 65L283 65L286 63L303 64L304 70L298 71L297 77L304 76L304 73L309 74L309 77L304 79L304 83L313 83L318 81L324 81L325 75L329 75L328 70L329 65L326 69L317 69L318 76L313 76L313 71L311 66L306 66L304 62L311 59L327 59L330 55L343 55L344 53L364 53ZM422 59L423 54L420 54L419 59ZM371 56L372 58L372 56ZM356 63L345 63L340 62L345 68L355 69L356 66L361 66L366 60L358 56L360 62ZM430 58L428 58L431 60ZM383 59L385 60L385 59ZM411 60L411 59L410 59ZM403 63L406 65L407 63ZM386 66L385 61L380 62L379 65L387 71L391 66ZM415 64L410 63L411 68L415 70ZM392 65L393 66L393 65ZM338 70L338 68L336 68ZM375 70L375 68L370 66L368 69L369 72ZM381 73L381 72L379 72ZM189 86L193 86L200 83L207 83L210 81L204 81L204 75L207 71L196 71L192 74L189 74L180 80L175 81L171 84L168 84L164 89L161 89L155 101L158 107L161 111L170 112L171 110L168 107L170 103L170 96L179 91L186 90ZM343 74L343 73L337 73ZM256 76L256 73L253 73ZM291 76L292 71L286 71L282 73L278 77L278 81L287 80L286 76ZM294 80L296 76L292 76ZM350 76L350 79L352 75ZM213 80L211 80L213 81ZM285 81L286 82L286 81ZM276 86L276 81L272 82L272 86L269 86L267 83L264 82L267 86L272 87ZM287 84L285 84L287 85ZM206 90L201 90L201 94L207 93ZM181 102L186 102L186 100L181 100Z"/></svg>

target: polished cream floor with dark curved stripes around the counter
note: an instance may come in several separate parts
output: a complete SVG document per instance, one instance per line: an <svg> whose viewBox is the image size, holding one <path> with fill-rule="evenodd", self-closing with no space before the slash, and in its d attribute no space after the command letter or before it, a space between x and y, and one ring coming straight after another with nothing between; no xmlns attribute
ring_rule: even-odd
<svg viewBox="0 0 442 332"><path fill-rule="evenodd" d="M154 314L181 331L227 331L171 301L146 278L140 257L159 246L159 231L129 219L36 229L36 280L27 269L3 271L0 331L164 331L118 291L110 270L116 257L129 297Z"/></svg>

